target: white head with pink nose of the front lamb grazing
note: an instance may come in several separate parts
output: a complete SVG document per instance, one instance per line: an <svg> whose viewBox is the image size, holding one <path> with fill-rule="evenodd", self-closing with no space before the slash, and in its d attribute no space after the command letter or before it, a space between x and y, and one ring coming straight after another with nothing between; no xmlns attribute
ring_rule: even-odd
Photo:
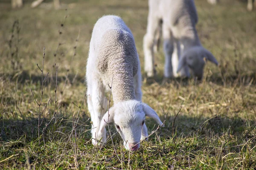
<svg viewBox="0 0 256 170"><path fill-rule="evenodd" d="M113 122L123 139L127 150L137 150L140 147L141 131L145 123L145 116L153 118L162 125L157 113L148 105L137 100L118 102L107 111L100 122L99 132L108 123Z"/></svg>

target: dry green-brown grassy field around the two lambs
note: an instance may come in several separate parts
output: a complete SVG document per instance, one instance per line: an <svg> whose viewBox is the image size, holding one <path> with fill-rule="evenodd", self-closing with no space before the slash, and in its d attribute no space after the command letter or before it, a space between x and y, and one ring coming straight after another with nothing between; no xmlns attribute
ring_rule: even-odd
<svg viewBox="0 0 256 170"><path fill-rule="evenodd" d="M131 153L119 135L102 149L91 144L84 75L93 25L105 14L131 28L143 67L147 0L62 2L73 8L12 11L0 1L0 169L256 169L256 11L195 0L199 37L220 66L208 63L200 82L162 83L159 52L158 77L143 79L142 90L165 127Z"/></svg>

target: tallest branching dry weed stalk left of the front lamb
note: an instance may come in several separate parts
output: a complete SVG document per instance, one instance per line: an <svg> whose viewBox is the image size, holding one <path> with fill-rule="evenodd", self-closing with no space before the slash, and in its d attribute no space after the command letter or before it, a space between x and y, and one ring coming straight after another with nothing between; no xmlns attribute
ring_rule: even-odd
<svg viewBox="0 0 256 170"><path fill-rule="evenodd" d="M45 46L44 46L44 56L45 56ZM39 142L39 144L40 144L40 126L42 125L42 122L43 122L43 120L44 120L44 117L43 117L42 122L40 123L40 116L41 116L41 114L42 114L43 112L44 112L44 116L45 116L45 111L46 111L47 105L49 104L49 102L50 102L50 100L51 100L51 98L49 98L48 102L45 103L45 106L44 106L43 111L41 111L41 105L42 105L44 90L45 90L46 82L47 82L46 78L47 78L47 75L49 74L49 73L47 73L46 76L45 76L44 79L43 79L43 74L44 74L44 56L43 56L42 69L38 66L38 64L36 64L36 65L38 66L39 70L41 71L41 78L42 78L42 82L41 82L41 99L40 99L40 102L39 102L39 103L38 103L38 101L35 99L35 96L34 96L34 94L33 94L32 89L30 89L30 91L31 91L31 93L32 93L32 95L33 95L33 97L34 97L34 99L35 99L35 102L38 104L38 107L39 107L39 110L38 110L38 142ZM45 82L45 83L44 83L44 82Z"/></svg>

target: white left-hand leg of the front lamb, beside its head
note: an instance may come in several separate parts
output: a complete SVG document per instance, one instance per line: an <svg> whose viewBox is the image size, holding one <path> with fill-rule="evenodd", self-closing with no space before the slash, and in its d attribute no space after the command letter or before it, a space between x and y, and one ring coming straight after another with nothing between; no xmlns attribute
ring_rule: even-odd
<svg viewBox="0 0 256 170"><path fill-rule="evenodd" d="M99 140L104 144L106 142L106 129L103 130L102 136L97 136L99 131L100 121L107 110L108 100L105 97L105 89L99 79L94 79L93 76L87 76L87 104L90 111L92 122L92 142L96 145Z"/></svg>

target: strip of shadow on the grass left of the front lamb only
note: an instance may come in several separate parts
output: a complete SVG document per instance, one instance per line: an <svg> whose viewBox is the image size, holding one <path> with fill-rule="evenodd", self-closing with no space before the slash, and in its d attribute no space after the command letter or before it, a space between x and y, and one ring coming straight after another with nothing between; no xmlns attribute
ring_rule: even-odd
<svg viewBox="0 0 256 170"><path fill-rule="evenodd" d="M79 116L70 118L65 115L57 113L50 122L52 117L41 117L40 119L40 135L44 131L44 139L47 141L59 139L60 137L68 138L69 134L73 132L76 134L83 134L84 138L90 139L90 118L80 113ZM20 116L19 116L20 117ZM49 124L49 125L47 125ZM0 121L0 141L8 142L24 138L26 142L31 142L38 139L38 118L35 116L24 116L16 118L12 113L4 113ZM43 138L41 136L41 140Z"/></svg>

